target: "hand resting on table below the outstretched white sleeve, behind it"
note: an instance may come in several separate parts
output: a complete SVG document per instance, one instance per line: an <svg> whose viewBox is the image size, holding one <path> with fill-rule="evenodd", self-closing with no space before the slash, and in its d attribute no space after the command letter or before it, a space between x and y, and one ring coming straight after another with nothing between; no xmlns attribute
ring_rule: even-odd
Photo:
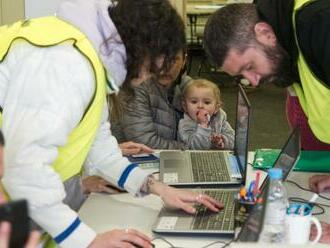
<svg viewBox="0 0 330 248"><path fill-rule="evenodd" d="M123 190L112 185L108 181L99 176L88 176L82 180L82 186L85 194L92 192L106 192L109 194L120 193Z"/></svg>

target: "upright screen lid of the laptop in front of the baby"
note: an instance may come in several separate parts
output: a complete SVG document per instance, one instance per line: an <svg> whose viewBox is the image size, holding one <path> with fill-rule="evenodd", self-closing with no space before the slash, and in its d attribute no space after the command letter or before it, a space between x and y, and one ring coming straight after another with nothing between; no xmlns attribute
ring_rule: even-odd
<svg viewBox="0 0 330 248"><path fill-rule="evenodd" d="M244 89L239 84L237 94L236 108L236 126L235 126L235 146L234 154L237 159L238 167L242 175L242 185L245 184L246 166L248 159L248 143L249 143L249 125L251 104L247 98Z"/></svg>

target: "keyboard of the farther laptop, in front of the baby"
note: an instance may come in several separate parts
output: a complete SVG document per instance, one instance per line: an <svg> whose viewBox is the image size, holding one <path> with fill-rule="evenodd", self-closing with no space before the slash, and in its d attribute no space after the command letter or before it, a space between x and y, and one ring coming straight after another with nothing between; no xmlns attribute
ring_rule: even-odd
<svg viewBox="0 0 330 248"><path fill-rule="evenodd" d="M223 152L193 152L190 159L194 182L230 181Z"/></svg>

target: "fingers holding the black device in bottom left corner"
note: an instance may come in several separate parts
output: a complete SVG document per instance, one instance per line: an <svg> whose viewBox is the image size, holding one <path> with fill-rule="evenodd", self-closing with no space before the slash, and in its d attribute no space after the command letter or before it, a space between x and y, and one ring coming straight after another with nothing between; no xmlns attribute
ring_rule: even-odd
<svg viewBox="0 0 330 248"><path fill-rule="evenodd" d="M0 224L0 248L8 248L10 241L10 223L1 222ZM37 231L32 231L30 233L29 239L26 242L24 248L36 248L38 246L40 239L40 233Z"/></svg>

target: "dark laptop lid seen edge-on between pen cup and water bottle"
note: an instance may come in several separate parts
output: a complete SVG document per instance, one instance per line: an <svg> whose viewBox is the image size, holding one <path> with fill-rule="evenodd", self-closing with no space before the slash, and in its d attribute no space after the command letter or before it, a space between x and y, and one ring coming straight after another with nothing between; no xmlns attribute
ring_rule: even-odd
<svg viewBox="0 0 330 248"><path fill-rule="evenodd" d="M248 219L245 221L241 231L239 232L235 241L237 242L257 242L259 240L260 233L262 231L266 204L269 192L269 180L266 181L265 187L261 192L261 203L256 203L251 210Z"/></svg>

